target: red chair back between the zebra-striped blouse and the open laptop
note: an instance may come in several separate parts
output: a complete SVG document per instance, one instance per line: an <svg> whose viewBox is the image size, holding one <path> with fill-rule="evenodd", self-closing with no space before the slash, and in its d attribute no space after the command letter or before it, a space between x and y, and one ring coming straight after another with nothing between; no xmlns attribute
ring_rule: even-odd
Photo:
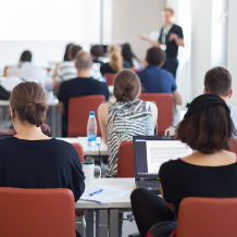
<svg viewBox="0 0 237 237"><path fill-rule="evenodd" d="M120 146L117 177L135 177L133 141L123 141Z"/></svg>

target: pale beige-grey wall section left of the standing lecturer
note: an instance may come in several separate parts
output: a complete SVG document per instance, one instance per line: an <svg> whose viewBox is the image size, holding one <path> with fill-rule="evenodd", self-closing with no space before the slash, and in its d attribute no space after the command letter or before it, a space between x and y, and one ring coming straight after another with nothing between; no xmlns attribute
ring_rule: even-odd
<svg viewBox="0 0 237 237"><path fill-rule="evenodd" d="M112 42L129 42L139 60L144 61L150 43L138 38L162 27L161 11L165 0L113 0Z"/></svg>

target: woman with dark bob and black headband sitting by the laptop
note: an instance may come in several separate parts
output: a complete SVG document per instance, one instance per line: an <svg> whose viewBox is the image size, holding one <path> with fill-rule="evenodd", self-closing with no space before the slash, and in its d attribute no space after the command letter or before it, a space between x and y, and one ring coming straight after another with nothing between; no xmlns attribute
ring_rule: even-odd
<svg viewBox="0 0 237 237"><path fill-rule="evenodd" d="M184 198L237 197L236 154L225 151L230 148L232 134L236 134L229 114L225 101L215 95L202 95L191 102L176 128L176 139L187 144L194 153L161 165L162 198L141 188L132 192L141 237L158 223L176 221Z"/></svg>

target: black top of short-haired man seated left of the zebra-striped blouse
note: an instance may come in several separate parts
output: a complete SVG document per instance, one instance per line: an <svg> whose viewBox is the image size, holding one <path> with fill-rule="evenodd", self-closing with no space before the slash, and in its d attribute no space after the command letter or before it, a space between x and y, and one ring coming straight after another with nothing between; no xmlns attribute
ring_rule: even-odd
<svg viewBox="0 0 237 237"><path fill-rule="evenodd" d="M110 97L108 85L92 77L76 77L65 80L61 84L58 99L64 103L65 115L62 117L63 135L66 136L67 130L67 110L68 100L74 97L84 97L92 95L103 95L108 100Z"/></svg>

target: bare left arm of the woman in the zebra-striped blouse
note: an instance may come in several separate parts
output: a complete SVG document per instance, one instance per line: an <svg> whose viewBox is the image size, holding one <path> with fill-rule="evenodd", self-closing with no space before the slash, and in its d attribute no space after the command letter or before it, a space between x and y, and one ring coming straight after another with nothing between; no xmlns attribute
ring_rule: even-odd
<svg viewBox="0 0 237 237"><path fill-rule="evenodd" d="M109 117L109 103L102 103L98 108L98 120L103 142L108 145L107 123Z"/></svg>

